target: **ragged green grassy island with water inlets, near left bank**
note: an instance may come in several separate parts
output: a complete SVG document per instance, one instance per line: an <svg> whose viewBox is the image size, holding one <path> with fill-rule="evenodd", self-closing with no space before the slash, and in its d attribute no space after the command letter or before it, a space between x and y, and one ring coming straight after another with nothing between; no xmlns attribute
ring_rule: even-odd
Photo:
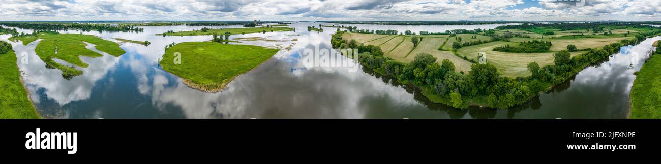
<svg viewBox="0 0 661 164"><path fill-rule="evenodd" d="M83 71L75 69L75 67L62 65L53 59L59 59L77 65L79 67L87 67L87 63L80 60L80 56L88 56L97 58L103 56L97 52L87 49L89 44L95 44L95 48L100 52L106 52L112 56L121 56L126 51L120 48L119 44L109 40L98 38L97 36L88 34L30 34L26 36L17 36L9 38L9 40L22 40L23 44L29 44L36 40L42 39L35 48L37 56L46 63L46 67L57 68L62 71L62 77L70 79L71 77L83 74Z"/></svg>

